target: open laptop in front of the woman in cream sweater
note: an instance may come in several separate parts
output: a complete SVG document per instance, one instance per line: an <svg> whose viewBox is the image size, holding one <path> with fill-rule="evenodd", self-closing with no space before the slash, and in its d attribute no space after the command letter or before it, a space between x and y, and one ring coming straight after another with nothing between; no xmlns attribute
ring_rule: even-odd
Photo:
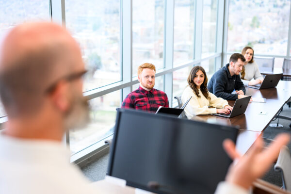
<svg viewBox="0 0 291 194"><path fill-rule="evenodd" d="M246 110L246 107L247 107L251 97L252 96L248 96L248 97L243 97L243 98L237 99L233 105L233 109L230 112L230 114L217 113L217 114L213 114L213 115L231 118L231 117L243 114Z"/></svg>

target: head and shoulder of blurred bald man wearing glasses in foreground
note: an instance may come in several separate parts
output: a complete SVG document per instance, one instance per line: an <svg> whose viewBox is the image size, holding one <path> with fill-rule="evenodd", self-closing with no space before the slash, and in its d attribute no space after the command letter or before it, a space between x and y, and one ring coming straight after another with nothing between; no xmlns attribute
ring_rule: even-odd
<svg viewBox="0 0 291 194"><path fill-rule="evenodd" d="M30 23L9 32L1 47L8 121L0 135L0 194L96 194L61 143L89 117L77 42L56 24Z"/></svg>

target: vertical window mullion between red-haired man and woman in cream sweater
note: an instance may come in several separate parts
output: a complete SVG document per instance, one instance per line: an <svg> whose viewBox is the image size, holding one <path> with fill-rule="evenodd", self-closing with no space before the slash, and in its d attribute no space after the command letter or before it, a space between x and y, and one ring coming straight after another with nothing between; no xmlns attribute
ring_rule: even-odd
<svg viewBox="0 0 291 194"><path fill-rule="evenodd" d="M165 69L173 68L174 54L174 0L165 0L165 27L164 27L164 66ZM164 76L164 92L169 99L170 107L172 107L173 96L173 73L167 73Z"/></svg>

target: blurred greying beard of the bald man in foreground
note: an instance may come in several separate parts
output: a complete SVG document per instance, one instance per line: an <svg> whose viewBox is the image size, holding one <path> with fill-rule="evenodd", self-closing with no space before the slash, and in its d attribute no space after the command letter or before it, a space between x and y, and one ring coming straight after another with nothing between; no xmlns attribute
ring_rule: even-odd
<svg viewBox="0 0 291 194"><path fill-rule="evenodd" d="M83 95L74 95L71 108L65 114L65 129L81 129L90 121L89 104Z"/></svg>

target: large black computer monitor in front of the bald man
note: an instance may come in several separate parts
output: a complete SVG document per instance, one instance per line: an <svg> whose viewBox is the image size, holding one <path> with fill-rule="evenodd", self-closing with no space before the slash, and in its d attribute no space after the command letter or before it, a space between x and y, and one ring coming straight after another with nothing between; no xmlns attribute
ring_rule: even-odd
<svg viewBox="0 0 291 194"><path fill-rule="evenodd" d="M158 194L213 194L232 162L222 142L237 129L119 109L108 175Z"/></svg>

